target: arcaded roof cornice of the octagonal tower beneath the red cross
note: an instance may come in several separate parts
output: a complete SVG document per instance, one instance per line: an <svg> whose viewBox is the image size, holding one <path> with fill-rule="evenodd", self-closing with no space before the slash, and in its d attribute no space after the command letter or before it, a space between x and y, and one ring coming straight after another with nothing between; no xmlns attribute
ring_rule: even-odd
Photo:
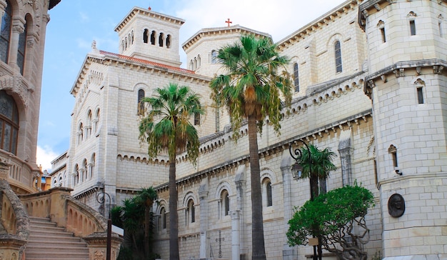
<svg viewBox="0 0 447 260"><path fill-rule="evenodd" d="M199 41L199 39L204 38L206 36L216 36L218 34L254 34L256 36L263 36L271 38L270 34L263 33L261 31L256 31L253 29L248 29L246 27L240 26L238 24L233 26L224 26L224 27L215 27L215 28L206 28L201 29L200 31L196 32L193 36L191 36L188 40L184 42L184 44L181 44L181 47L186 51L190 46L194 45L196 41Z"/></svg>

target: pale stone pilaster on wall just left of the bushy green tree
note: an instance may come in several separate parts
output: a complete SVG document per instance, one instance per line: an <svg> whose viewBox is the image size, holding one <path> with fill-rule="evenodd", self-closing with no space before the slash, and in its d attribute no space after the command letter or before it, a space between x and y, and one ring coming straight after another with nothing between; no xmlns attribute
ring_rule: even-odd
<svg viewBox="0 0 447 260"><path fill-rule="evenodd" d="M292 218L293 206L292 206L292 191L291 184L293 181L290 167L292 165L291 156L286 154L281 161L281 173L283 175L283 199L284 199L284 234L288 230L288 221ZM283 260L298 259L298 252L293 247L288 246L287 239L285 238L283 244Z"/></svg>

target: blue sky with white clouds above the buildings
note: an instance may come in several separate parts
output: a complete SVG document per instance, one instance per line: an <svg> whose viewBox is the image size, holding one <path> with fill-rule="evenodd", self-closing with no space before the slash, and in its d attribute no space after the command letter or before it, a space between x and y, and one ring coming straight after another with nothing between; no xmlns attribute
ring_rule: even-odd
<svg viewBox="0 0 447 260"><path fill-rule="evenodd" d="M204 28L240 25L268 33L274 42L300 29L345 0L62 0L49 11L46 26L37 164L51 171L51 161L69 149L70 94L92 41L98 49L118 53L115 26L134 6L151 7L184 19L180 44ZM180 46L181 47L181 46ZM182 49L181 67L186 68Z"/></svg>

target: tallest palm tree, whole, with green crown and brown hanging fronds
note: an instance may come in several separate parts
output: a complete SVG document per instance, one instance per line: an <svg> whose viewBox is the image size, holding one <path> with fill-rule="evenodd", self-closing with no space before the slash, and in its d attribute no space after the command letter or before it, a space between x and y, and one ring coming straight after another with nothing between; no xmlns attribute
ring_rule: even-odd
<svg viewBox="0 0 447 260"><path fill-rule="evenodd" d="M248 149L251 169L252 259L266 259L263 237L261 176L257 132L262 133L264 119L279 134L283 102L291 101L291 80L276 45L268 38L241 36L241 41L219 49L218 59L226 74L211 80L211 98L225 104L231 118L233 138L238 139L238 128L248 121ZM279 69L284 69L278 74Z"/></svg>

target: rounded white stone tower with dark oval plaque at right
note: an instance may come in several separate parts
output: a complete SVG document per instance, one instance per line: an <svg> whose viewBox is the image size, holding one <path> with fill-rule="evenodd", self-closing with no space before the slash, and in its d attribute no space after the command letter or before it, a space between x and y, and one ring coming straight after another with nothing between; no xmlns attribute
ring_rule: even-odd
<svg viewBox="0 0 447 260"><path fill-rule="evenodd" d="M446 232L446 1L366 1L383 256L438 258Z"/></svg>

